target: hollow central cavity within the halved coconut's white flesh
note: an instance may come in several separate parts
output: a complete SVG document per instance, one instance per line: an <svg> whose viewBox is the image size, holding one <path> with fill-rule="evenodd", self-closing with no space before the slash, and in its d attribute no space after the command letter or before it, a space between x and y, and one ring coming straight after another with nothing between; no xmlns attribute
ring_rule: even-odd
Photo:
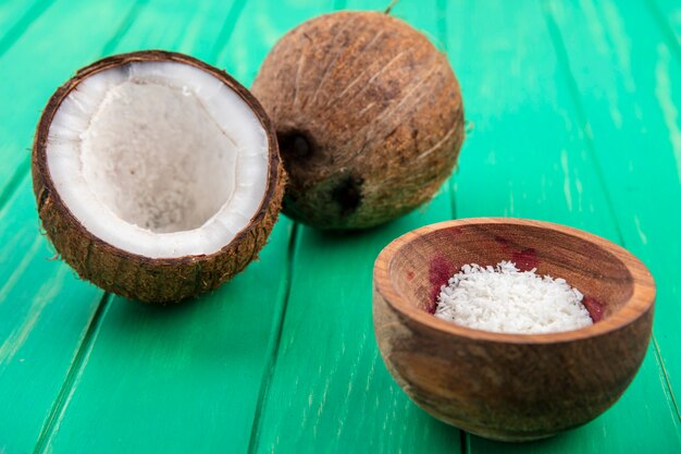
<svg viewBox="0 0 681 454"><path fill-rule="evenodd" d="M92 193L143 229L200 228L234 193L236 144L189 90L126 81L109 89L82 138Z"/></svg>

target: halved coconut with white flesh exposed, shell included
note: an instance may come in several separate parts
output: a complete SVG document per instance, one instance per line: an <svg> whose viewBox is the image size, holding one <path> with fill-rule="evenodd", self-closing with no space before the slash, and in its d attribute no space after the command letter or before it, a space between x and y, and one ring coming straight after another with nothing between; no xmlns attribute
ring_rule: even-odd
<svg viewBox="0 0 681 454"><path fill-rule="evenodd" d="M60 87L32 160L47 235L77 273L143 302L218 287L264 245L284 173L234 78L187 56L114 56Z"/></svg>

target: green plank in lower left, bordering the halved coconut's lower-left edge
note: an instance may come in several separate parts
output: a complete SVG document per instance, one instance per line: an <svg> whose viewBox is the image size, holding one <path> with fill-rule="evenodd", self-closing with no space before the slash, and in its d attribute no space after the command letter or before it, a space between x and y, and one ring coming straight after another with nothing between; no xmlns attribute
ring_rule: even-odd
<svg viewBox="0 0 681 454"><path fill-rule="evenodd" d="M28 452L58 397L101 299L51 260L37 232L33 194L0 213L0 452Z"/></svg>

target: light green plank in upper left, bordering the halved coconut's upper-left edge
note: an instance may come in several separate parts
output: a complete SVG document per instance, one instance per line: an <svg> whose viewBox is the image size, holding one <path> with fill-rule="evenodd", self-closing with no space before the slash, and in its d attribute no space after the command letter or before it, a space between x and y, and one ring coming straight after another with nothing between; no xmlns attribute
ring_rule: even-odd
<svg viewBox="0 0 681 454"><path fill-rule="evenodd" d="M0 111L0 205L28 173L29 149L38 118L54 89L99 57L131 14L131 2L40 1L28 30L0 57L0 99L21 102ZM50 37L46 39L46 37ZM46 69L49 69L47 71Z"/></svg>

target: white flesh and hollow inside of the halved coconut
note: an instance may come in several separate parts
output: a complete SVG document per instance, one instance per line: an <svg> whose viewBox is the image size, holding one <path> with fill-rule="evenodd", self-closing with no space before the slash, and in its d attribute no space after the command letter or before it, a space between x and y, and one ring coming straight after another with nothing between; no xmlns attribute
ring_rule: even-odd
<svg viewBox="0 0 681 454"><path fill-rule="evenodd" d="M46 155L88 232L151 258L220 250L250 223L268 184L258 116L218 77L176 62L82 81L52 119Z"/></svg>

